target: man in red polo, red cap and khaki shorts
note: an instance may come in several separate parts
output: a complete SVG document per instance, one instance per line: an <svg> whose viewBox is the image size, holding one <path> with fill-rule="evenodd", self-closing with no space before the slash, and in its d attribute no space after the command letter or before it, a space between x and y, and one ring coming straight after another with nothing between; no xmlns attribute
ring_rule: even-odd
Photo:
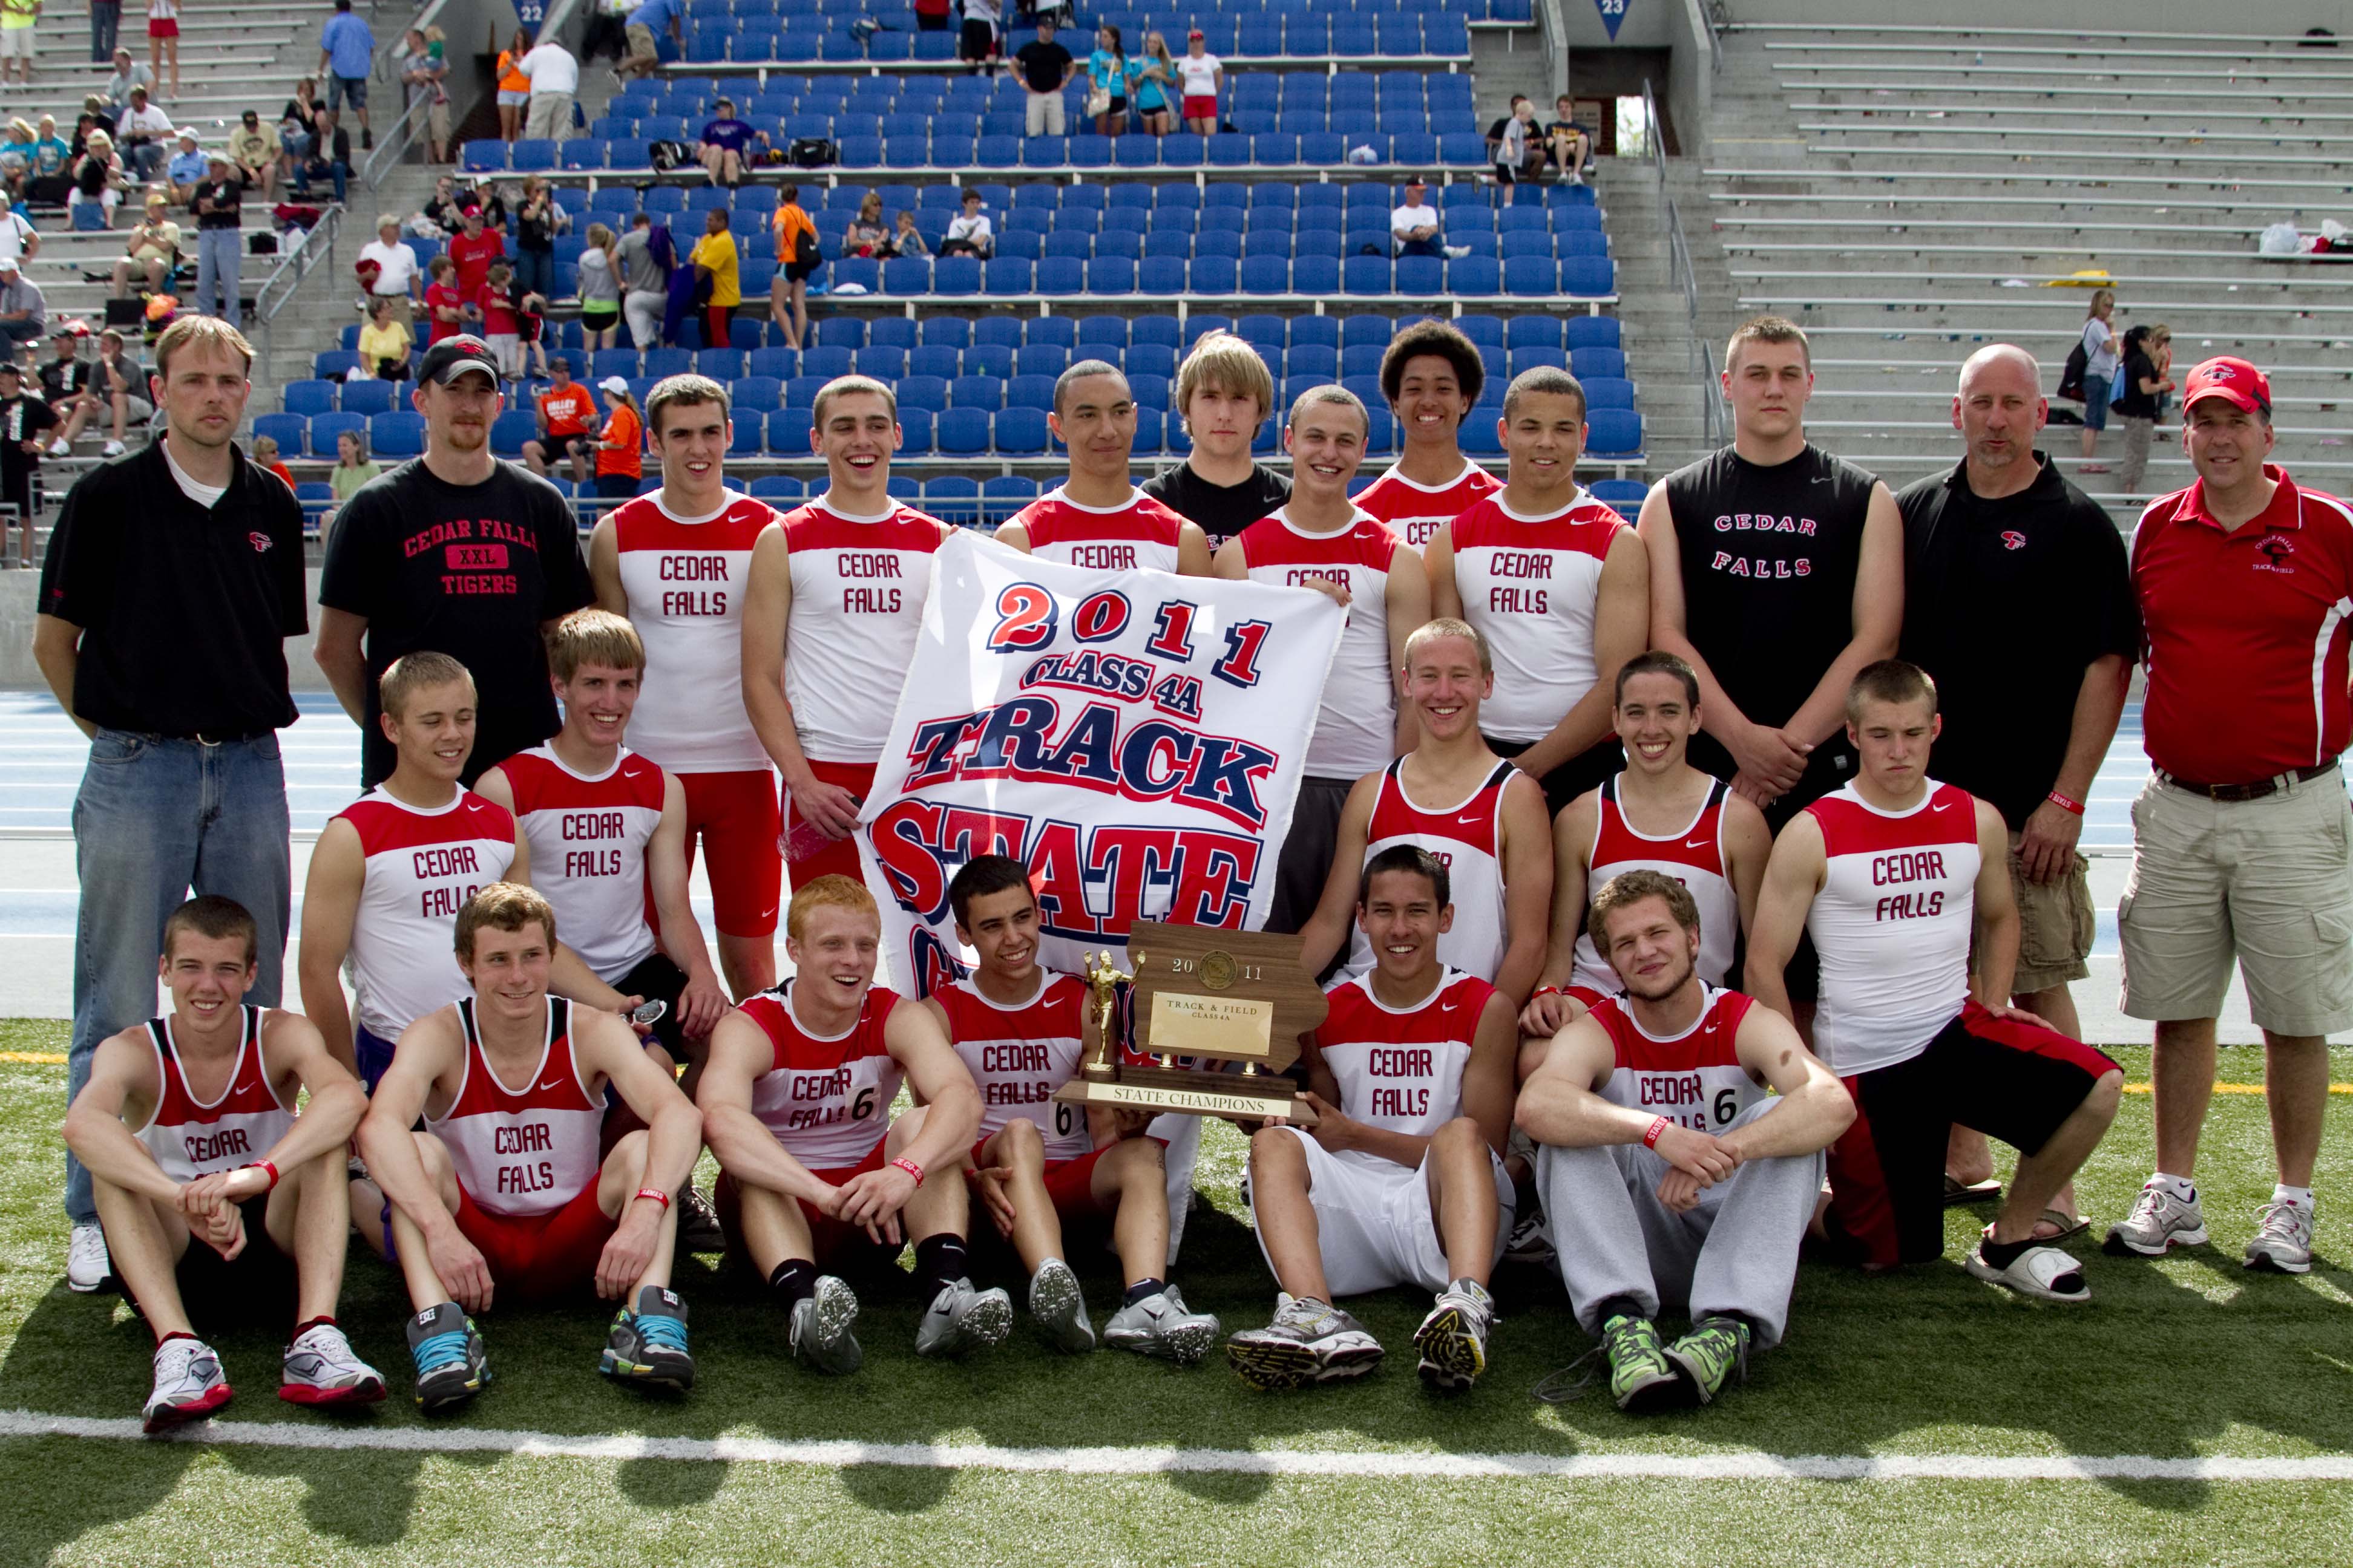
<svg viewBox="0 0 2353 1568"><path fill-rule="evenodd" d="M2115 924L2125 1013L2158 1025L2158 1171L2108 1229L2108 1251L2160 1255L2207 1239L2191 1166L2235 957L2264 1030L2278 1161L2245 1258L2304 1274L2327 1034L2353 1027L2353 809L2337 769L2353 731L2353 512L2266 463L2271 447L2264 371L2207 360L2181 393L2198 482L2153 501L2132 536L2155 778L2132 806Z"/></svg>

